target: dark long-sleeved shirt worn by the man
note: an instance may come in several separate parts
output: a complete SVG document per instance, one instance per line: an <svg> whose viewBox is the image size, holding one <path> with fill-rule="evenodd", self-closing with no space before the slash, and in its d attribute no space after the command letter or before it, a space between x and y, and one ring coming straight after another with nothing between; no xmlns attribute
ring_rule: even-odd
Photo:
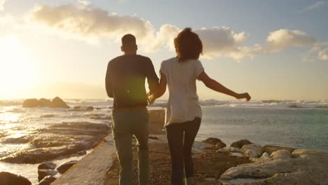
<svg viewBox="0 0 328 185"><path fill-rule="evenodd" d="M149 57L142 55L122 55L108 63L106 90L114 97L115 108L139 107L147 105L145 79L149 90L158 88L158 76Z"/></svg>

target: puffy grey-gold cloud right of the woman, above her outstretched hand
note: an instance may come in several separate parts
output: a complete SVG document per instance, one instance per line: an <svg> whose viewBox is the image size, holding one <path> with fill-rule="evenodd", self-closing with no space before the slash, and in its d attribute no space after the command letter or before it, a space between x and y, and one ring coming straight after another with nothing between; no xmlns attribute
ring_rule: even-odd
<svg viewBox="0 0 328 185"><path fill-rule="evenodd" d="M313 36L299 30L279 29L270 32L266 39L266 52L279 52L289 47L311 46L315 43Z"/></svg>

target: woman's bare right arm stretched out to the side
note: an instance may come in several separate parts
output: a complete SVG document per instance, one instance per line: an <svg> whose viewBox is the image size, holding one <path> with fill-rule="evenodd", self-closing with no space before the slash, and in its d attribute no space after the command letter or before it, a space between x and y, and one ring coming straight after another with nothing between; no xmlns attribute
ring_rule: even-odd
<svg viewBox="0 0 328 185"><path fill-rule="evenodd" d="M224 87L224 85L221 85L221 83L213 80L212 78L210 78L209 76L207 76L207 74L205 73L205 71L203 71L202 73L200 73L200 75L198 76L198 79L200 81L203 81L203 83L206 85L207 88L210 88L212 90L215 90L219 93L224 93L226 95L230 95L232 97L235 97L236 99L243 99L245 98L247 101L251 100L251 97L248 93L235 93L232 90Z"/></svg>

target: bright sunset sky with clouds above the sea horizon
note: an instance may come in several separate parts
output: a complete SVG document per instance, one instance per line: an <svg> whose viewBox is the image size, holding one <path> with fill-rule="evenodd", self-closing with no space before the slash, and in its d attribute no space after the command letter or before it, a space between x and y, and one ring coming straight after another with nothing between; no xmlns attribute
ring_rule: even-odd
<svg viewBox="0 0 328 185"><path fill-rule="evenodd" d="M327 18L323 0L0 0L0 100L106 99L121 36L135 34L159 71L184 27L227 88L253 100L328 100ZM233 100L197 85L201 100Z"/></svg>

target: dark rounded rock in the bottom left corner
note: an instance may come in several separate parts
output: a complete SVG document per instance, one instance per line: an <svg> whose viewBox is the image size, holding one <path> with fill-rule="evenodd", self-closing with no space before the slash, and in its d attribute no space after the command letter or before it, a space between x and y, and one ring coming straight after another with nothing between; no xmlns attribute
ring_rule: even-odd
<svg viewBox="0 0 328 185"><path fill-rule="evenodd" d="M10 172L0 172L0 184L1 185L31 185L29 179Z"/></svg>

